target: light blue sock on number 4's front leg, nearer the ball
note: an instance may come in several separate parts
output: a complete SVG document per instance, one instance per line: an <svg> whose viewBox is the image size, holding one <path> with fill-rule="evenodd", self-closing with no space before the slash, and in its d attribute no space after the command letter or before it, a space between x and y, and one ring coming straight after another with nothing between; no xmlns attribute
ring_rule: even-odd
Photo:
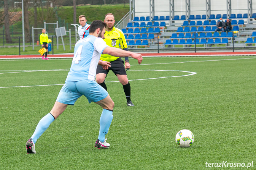
<svg viewBox="0 0 256 170"><path fill-rule="evenodd" d="M104 142L105 136L109 131L110 124L113 119L113 111L109 111L107 109L103 109L101 113L101 118L100 118L100 132L98 139L101 142Z"/></svg>

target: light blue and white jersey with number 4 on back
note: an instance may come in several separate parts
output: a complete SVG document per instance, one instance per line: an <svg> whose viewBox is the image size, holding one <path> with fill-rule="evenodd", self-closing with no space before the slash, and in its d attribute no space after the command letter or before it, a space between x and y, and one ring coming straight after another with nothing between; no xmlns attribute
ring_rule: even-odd
<svg viewBox="0 0 256 170"><path fill-rule="evenodd" d="M71 68L65 82L95 80L97 65L106 47L108 45L102 38L93 35L77 41Z"/></svg>

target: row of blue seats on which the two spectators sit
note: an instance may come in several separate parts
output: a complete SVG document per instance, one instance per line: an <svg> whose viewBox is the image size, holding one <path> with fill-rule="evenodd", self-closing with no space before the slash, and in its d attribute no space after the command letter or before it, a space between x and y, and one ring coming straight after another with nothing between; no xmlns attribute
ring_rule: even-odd
<svg viewBox="0 0 256 170"><path fill-rule="evenodd" d="M209 20L205 20L204 22L202 22L201 20L198 20L196 23L195 21L184 21L182 26L194 26L194 25L216 25L217 22L216 20L211 20L211 22L209 22ZM244 20L232 20L231 21L231 25L244 25Z"/></svg>

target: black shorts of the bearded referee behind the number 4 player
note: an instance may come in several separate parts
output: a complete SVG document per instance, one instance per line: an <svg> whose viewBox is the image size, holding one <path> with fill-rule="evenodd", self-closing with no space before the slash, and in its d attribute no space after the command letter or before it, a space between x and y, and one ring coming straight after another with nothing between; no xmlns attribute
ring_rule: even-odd
<svg viewBox="0 0 256 170"><path fill-rule="evenodd" d="M102 68L102 66L98 65L96 74L104 73L107 75L109 73L109 70L112 70L112 72L115 75L117 75L117 74L118 75L127 75L126 71L125 71L125 67L124 67L124 61L122 59L118 58L115 61L110 61L110 63L111 63L111 67L109 67L109 69L107 69L107 70L104 70Z"/></svg>

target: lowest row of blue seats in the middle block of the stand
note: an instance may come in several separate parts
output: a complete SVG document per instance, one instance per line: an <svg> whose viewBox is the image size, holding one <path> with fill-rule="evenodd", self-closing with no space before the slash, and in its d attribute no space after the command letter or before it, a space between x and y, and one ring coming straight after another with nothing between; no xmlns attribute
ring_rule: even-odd
<svg viewBox="0 0 256 170"><path fill-rule="evenodd" d="M174 39L173 41L171 40L166 40L166 43L164 43L165 45L179 45L179 44L222 44L222 43L228 43L228 38L223 38L222 41L220 38L216 38L215 41L212 38L209 38L208 41L204 38L201 39L201 41L199 41L199 39L195 39L195 41L192 41L192 39L187 39L187 41L185 41L185 39L181 39L181 40L177 40Z"/></svg>

